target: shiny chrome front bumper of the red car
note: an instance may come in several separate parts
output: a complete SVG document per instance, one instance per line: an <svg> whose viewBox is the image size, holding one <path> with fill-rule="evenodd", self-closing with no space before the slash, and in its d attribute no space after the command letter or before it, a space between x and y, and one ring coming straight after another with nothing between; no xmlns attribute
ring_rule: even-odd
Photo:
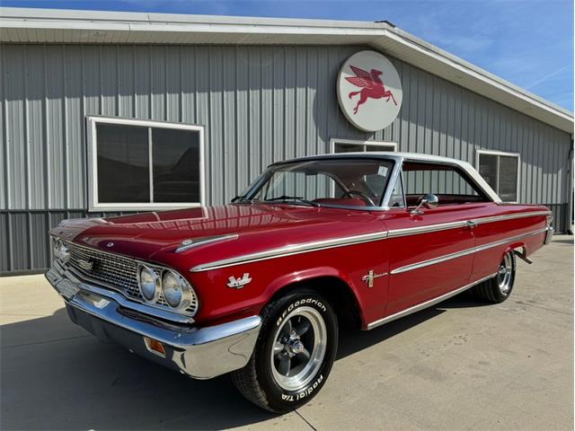
<svg viewBox="0 0 575 431"><path fill-rule="evenodd" d="M259 316L205 328L173 324L122 306L115 293L84 283L55 265L46 273L50 285L66 302L75 324L102 341L117 342L129 351L196 379L209 379L242 368L252 356L261 327ZM162 356L144 337L164 346Z"/></svg>

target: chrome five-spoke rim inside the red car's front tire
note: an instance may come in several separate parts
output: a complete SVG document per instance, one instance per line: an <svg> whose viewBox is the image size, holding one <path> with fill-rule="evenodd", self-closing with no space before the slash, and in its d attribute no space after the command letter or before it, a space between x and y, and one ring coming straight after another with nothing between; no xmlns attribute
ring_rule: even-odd
<svg viewBox="0 0 575 431"><path fill-rule="evenodd" d="M296 391L310 383L325 356L327 330L322 315L312 307L290 312L274 336L271 372L278 385Z"/></svg>

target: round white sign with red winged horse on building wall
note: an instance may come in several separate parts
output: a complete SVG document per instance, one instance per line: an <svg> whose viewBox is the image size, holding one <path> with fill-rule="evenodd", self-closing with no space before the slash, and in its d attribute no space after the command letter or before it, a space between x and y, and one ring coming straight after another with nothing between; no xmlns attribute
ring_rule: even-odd
<svg viewBox="0 0 575 431"><path fill-rule="evenodd" d="M402 81L392 62L376 51L359 51L341 66L338 99L356 128L375 132L394 122L402 107Z"/></svg>

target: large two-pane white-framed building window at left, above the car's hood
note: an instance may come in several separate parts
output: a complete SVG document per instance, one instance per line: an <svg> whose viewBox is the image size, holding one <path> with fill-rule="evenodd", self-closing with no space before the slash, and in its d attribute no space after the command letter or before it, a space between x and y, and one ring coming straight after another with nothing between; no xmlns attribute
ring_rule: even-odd
<svg viewBox="0 0 575 431"><path fill-rule="evenodd" d="M203 128L88 117L90 210L199 207Z"/></svg>

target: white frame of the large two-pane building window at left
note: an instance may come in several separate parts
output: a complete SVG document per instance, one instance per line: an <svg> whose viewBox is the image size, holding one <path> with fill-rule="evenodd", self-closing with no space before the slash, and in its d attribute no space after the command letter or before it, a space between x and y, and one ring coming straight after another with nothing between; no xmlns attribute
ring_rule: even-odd
<svg viewBox="0 0 575 431"><path fill-rule="evenodd" d="M137 211L137 210L164 210L184 207L202 207L206 202L206 169L204 157L204 127L198 125L170 123L167 121L153 121L147 119L122 119L118 117L86 117L86 131L88 141L88 211ZM120 126L138 126L144 128L170 128L178 130L193 130L199 132L199 202L162 202L162 203L100 203L98 202L98 149L96 126L98 124L113 124ZM152 145L151 134L148 134L148 145ZM152 166L151 152L150 166ZM150 169L150 194L153 192L153 175Z"/></svg>

